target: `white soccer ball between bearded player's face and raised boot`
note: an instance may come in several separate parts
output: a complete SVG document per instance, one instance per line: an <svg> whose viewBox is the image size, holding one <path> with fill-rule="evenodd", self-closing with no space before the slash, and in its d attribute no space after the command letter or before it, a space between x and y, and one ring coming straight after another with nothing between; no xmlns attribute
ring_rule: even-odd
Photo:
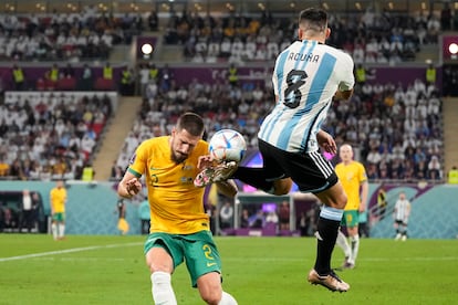
<svg viewBox="0 0 458 305"><path fill-rule="evenodd" d="M219 162L240 162L247 151L247 143L240 133L232 129L217 132L209 143L210 155Z"/></svg>

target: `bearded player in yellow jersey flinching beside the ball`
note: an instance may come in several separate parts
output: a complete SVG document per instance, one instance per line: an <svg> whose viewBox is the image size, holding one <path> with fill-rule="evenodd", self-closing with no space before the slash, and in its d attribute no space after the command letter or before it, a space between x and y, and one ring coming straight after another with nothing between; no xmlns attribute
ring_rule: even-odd
<svg viewBox="0 0 458 305"><path fill-rule="evenodd" d="M221 261L204 208L205 188L194 186L202 165L208 166L204 129L197 114L181 115L169 136L138 146L118 185L118 194L132 198L142 190L138 179L145 175L150 232L144 250L155 304L177 304L170 276L184 261L192 286L207 304L237 304L221 287ZM237 193L232 180L216 185L226 196Z"/></svg>

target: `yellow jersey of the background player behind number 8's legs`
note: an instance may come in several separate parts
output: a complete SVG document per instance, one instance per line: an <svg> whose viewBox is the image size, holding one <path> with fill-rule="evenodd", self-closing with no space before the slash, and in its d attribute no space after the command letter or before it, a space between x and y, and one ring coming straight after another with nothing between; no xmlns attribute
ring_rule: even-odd
<svg viewBox="0 0 458 305"><path fill-rule="evenodd" d="M364 166L358 161L352 161L348 165L341 162L335 166L335 172L348 198L345 211L357 210L361 203L360 187L362 182L367 180Z"/></svg>

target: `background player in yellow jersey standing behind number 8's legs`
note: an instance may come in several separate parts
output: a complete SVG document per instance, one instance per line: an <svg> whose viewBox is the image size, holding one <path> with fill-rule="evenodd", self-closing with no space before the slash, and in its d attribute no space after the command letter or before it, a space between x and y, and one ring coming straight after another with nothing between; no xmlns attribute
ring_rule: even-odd
<svg viewBox="0 0 458 305"><path fill-rule="evenodd" d="M335 166L335 172L346 192L347 201L342 218L342 225L346 227L350 243L339 231L336 244L345 253L343 267L353 269L360 250L358 215L366 209L368 182L364 166L353 160L352 146L344 144L339 150L341 162Z"/></svg>

